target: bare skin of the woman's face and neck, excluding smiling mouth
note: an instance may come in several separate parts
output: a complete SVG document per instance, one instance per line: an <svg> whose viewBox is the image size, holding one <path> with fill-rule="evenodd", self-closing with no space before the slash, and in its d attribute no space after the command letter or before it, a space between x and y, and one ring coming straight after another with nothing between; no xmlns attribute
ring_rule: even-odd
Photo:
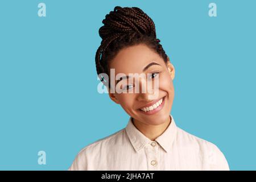
<svg viewBox="0 0 256 182"><path fill-rule="evenodd" d="M153 61L159 65L151 65L143 72L143 68ZM148 96L152 93L110 93L109 90L111 100L121 105L126 113L133 118L134 126L147 138L155 140L171 123L170 112L174 100L174 85L172 81L175 77L175 69L169 58L167 63L164 63L163 58L153 49L145 44L138 44L121 49L114 59L110 61L109 67L115 69L115 75L118 73L125 73L126 75L129 73L146 73L147 75L147 73L159 72L158 77L154 78L159 79L159 94L155 100L159 100L164 96L166 98L163 108L155 114L146 115L138 110L153 101L148 99ZM123 81L127 83L128 80ZM142 84L143 82L139 80L140 88ZM131 85L133 87L135 84Z"/></svg>

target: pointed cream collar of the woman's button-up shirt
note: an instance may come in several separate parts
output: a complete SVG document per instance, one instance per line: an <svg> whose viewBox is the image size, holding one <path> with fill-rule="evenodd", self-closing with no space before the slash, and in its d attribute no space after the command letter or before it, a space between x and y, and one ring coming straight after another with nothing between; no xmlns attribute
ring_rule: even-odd
<svg viewBox="0 0 256 182"><path fill-rule="evenodd" d="M172 143L174 142L174 139L176 137L176 130L177 130L174 118L172 117L171 114L170 114L170 118L171 118L170 125L167 127L167 129L164 131L162 135L160 135L158 138L155 139L155 141L158 142L158 144L166 152L170 152ZM151 142L153 142L152 140L147 138L145 135L143 135L141 131L139 131L137 127L133 125L131 117L129 118L129 121L127 123L125 130L130 139L131 144L133 145L135 151L137 152L141 150L141 148L143 148L146 144L150 144Z"/></svg>

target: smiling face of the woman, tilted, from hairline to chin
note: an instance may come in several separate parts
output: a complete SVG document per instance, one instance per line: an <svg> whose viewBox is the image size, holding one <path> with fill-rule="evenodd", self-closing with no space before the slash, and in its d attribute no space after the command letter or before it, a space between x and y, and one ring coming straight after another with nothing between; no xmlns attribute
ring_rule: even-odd
<svg viewBox="0 0 256 182"><path fill-rule="evenodd" d="M152 62L156 64L150 64ZM150 65L147 67L148 64ZM115 80L115 85L119 85L119 89L126 89L127 93L110 93L109 90L110 98L115 103L120 104L127 114L147 125L160 125L170 121L168 119L170 119L174 100L172 80L175 75L175 69L170 61L167 64L164 63L163 58L158 53L145 44L138 44L121 49L114 59L110 61L109 67L114 69L115 76L118 73L124 73L127 76L129 73L138 73L138 75L143 73L146 75L146 80L140 78L137 84L135 84L135 79L133 78L129 78L131 82L129 82L129 79L123 78L118 84L117 80ZM144 69L145 67L147 68L146 70ZM159 86L156 86L156 79L158 79ZM142 86L147 88L145 84L149 80L154 83L154 86L152 86L154 92L149 92L147 89L146 92L142 92ZM136 86L139 86L139 93L135 92ZM158 94L156 94L157 92ZM154 96L153 100L152 96Z"/></svg>

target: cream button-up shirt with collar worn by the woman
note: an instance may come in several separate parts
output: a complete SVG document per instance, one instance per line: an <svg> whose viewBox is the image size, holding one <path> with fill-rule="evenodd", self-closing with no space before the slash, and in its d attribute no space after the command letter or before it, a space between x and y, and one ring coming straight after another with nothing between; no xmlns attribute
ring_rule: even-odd
<svg viewBox="0 0 256 182"><path fill-rule="evenodd" d="M133 124L77 154L69 170L229 170L218 147L171 123L154 141Z"/></svg>

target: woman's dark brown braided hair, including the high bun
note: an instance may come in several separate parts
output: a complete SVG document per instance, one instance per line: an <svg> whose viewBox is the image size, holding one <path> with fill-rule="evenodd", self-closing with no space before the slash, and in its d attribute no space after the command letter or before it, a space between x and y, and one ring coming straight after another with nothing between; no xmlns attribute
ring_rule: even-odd
<svg viewBox="0 0 256 182"><path fill-rule="evenodd" d="M146 44L160 56L165 63L168 61L160 40L156 38L155 23L138 7L115 6L102 20L104 26L100 27L101 45L96 52L96 69L100 80L110 87L102 73L109 76L109 61L118 51L128 46L140 43Z"/></svg>

